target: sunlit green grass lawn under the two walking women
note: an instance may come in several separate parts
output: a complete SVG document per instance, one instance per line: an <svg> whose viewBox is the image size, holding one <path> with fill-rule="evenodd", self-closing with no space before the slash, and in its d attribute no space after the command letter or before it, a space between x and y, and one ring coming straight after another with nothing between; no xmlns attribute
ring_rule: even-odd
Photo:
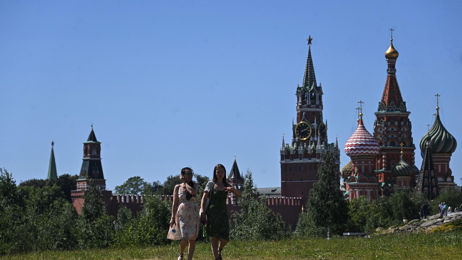
<svg viewBox="0 0 462 260"><path fill-rule="evenodd" d="M441 259L462 250L462 232L377 235L365 238L288 239L282 241L231 241L225 260L249 259ZM177 242L164 246L47 251L3 256L4 259L125 260L176 259ZM186 259L186 258L185 258ZM198 242L194 259L213 259L210 245Z"/></svg>

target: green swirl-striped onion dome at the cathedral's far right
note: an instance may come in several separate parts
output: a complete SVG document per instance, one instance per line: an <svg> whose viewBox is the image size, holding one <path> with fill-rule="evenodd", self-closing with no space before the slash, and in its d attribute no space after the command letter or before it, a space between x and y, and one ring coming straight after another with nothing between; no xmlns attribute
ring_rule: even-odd
<svg viewBox="0 0 462 260"><path fill-rule="evenodd" d="M432 128L425 134L425 136L420 139L420 151L422 158L424 158L424 151L426 147L426 139L430 137L432 154L452 154L456 150L457 142L456 138L452 136L446 128L444 128L443 123L439 119L439 112L435 118L435 123L433 123Z"/></svg>

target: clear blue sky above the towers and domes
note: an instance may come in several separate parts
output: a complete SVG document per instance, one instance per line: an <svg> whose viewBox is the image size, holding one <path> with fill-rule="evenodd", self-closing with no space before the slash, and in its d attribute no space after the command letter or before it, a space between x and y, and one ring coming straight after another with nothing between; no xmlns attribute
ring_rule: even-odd
<svg viewBox="0 0 462 260"><path fill-rule="evenodd" d="M400 3L402 2L402 3ZM390 31L418 143L441 118L462 143L461 1L1 1L0 167L19 182L78 174L90 125L113 189L190 166L250 168L280 186L295 90L308 46L324 92L328 140L341 148L364 101L373 131ZM450 166L460 185L462 147ZM349 158L341 151L343 167Z"/></svg>

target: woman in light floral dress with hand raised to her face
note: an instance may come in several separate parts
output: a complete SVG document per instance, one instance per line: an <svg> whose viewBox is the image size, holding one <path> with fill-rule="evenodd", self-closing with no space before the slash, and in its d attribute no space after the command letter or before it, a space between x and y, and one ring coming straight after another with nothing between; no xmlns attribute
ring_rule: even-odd
<svg viewBox="0 0 462 260"><path fill-rule="evenodd" d="M182 168L180 175L182 184L176 185L173 190L172 217L167 238L181 240L178 260L183 260L183 252L188 242L188 260L193 259L199 232L199 209L195 203L197 183L193 182L193 175L191 168Z"/></svg>

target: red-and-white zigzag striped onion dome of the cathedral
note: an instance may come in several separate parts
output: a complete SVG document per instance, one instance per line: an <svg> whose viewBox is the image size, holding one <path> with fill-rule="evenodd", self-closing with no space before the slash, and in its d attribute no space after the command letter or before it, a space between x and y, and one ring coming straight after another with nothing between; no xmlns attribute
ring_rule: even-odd
<svg viewBox="0 0 462 260"><path fill-rule="evenodd" d="M363 119L359 120L358 128L345 143L345 153L348 156L377 155L379 144L366 130Z"/></svg>

